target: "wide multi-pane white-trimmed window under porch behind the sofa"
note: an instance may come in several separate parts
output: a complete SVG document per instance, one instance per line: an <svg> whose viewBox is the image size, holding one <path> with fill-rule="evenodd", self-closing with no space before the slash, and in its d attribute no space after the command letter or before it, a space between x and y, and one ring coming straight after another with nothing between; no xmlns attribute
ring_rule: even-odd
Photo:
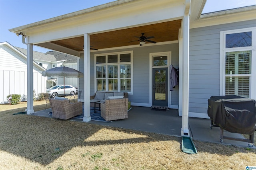
<svg viewBox="0 0 256 170"><path fill-rule="evenodd" d="M132 93L132 51L95 55L97 91Z"/></svg>

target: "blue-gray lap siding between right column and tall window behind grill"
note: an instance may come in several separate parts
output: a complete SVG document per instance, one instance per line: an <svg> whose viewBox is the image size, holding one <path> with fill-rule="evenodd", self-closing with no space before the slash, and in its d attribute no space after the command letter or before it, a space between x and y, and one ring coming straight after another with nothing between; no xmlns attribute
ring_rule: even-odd
<svg viewBox="0 0 256 170"><path fill-rule="evenodd" d="M208 99L220 95L220 31L255 26L251 20L190 29L190 116L208 117Z"/></svg>

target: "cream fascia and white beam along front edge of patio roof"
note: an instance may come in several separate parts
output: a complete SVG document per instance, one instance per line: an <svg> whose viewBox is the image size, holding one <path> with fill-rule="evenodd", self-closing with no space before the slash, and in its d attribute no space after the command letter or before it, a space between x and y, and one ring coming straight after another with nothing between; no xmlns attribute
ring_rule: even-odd
<svg viewBox="0 0 256 170"><path fill-rule="evenodd" d="M48 22L32 23L10 31L22 31L27 36L27 43L37 44L78 37L85 33L94 34L176 20L184 16L184 1L181 0L158 0L157 3L155 0L118 2L123 3L80 15L67 14L68 17L65 15L62 19L49 19Z"/></svg>

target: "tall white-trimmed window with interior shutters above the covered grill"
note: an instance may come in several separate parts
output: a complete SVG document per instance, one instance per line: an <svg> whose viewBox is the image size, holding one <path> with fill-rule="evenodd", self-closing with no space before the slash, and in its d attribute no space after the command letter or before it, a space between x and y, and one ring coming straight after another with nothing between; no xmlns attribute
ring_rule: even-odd
<svg viewBox="0 0 256 170"><path fill-rule="evenodd" d="M223 63L223 95L237 95L251 98L252 77L256 72L252 64L255 60L253 39L255 36L255 28L238 29L231 31L222 31L221 64ZM254 36L254 37L253 37ZM222 44L222 43L221 43Z"/></svg>

